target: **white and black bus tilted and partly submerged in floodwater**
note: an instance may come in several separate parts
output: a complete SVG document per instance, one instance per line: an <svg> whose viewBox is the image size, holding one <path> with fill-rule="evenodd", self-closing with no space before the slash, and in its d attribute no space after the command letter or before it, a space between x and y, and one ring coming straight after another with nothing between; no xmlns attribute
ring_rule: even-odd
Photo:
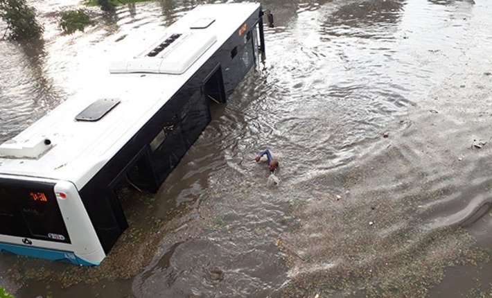
<svg viewBox="0 0 492 298"><path fill-rule="evenodd" d="M159 189L211 121L210 100L225 103L264 51L263 14L197 6L112 62L98 96L73 96L0 145L0 251L103 261L128 227L118 185Z"/></svg>

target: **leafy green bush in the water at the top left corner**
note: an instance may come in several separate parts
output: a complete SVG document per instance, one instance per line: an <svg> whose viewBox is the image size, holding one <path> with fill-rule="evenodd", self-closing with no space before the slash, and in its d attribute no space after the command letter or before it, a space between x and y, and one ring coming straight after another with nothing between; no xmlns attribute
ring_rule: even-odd
<svg viewBox="0 0 492 298"><path fill-rule="evenodd" d="M0 17L8 24L10 40L39 38L43 33L34 8L27 6L26 0L0 0Z"/></svg>

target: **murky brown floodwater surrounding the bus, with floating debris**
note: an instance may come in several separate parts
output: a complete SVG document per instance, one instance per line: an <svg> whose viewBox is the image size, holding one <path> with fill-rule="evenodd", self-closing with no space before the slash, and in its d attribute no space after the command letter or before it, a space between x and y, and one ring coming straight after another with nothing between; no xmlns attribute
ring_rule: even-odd
<svg viewBox="0 0 492 298"><path fill-rule="evenodd" d="M0 41L0 141L198 3ZM492 297L492 3L265 0L266 58L97 268L0 254L16 297ZM0 32L6 25L0 22ZM478 146L478 143L482 146ZM279 184L254 157L279 158ZM317 296L319 295L319 296ZM483 295L483 296L480 296Z"/></svg>

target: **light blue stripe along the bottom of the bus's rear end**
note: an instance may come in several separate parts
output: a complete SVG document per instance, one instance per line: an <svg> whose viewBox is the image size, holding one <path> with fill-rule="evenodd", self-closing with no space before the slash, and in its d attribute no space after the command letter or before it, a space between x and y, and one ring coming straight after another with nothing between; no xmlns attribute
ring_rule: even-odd
<svg viewBox="0 0 492 298"><path fill-rule="evenodd" d="M0 243L0 252L3 251L10 252L12 254L21 254L23 256L33 256L35 258L46 258L53 261L65 261L76 265L94 266L100 264L100 262L89 262L76 256L73 252L64 252L53 249Z"/></svg>

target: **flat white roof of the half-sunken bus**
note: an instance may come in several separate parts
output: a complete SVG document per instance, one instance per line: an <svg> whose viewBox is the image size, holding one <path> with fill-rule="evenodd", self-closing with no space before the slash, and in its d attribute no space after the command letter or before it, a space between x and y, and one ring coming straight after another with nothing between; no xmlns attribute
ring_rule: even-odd
<svg viewBox="0 0 492 298"><path fill-rule="evenodd" d="M154 46L130 60L111 63L107 88L68 98L0 145L0 175L67 180L82 188L259 6L226 3L190 10L166 28ZM148 57L174 34L180 37ZM119 103L98 121L76 121L98 99Z"/></svg>

